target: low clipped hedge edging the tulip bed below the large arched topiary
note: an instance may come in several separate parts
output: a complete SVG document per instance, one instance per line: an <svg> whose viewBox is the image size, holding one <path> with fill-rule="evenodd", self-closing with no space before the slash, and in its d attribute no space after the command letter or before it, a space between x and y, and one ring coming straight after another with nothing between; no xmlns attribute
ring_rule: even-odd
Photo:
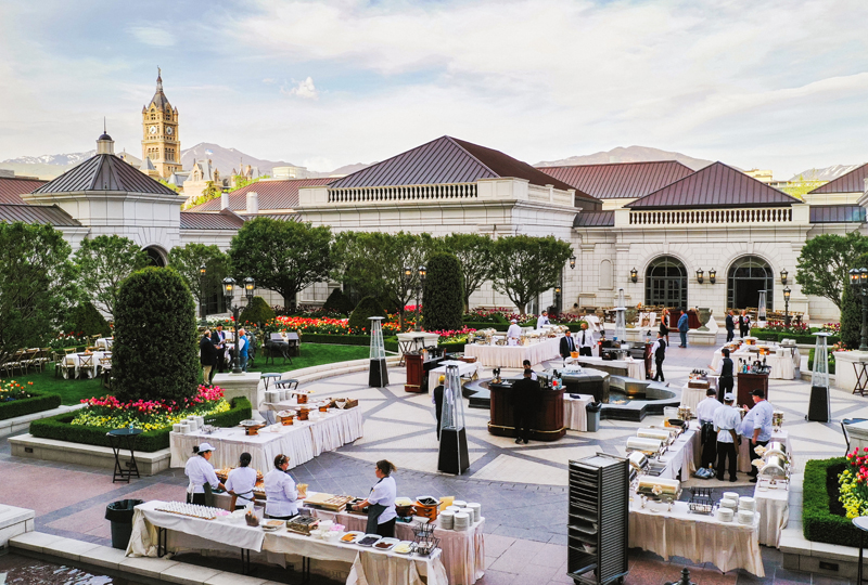
<svg viewBox="0 0 868 585"><path fill-rule="evenodd" d="M238 396L232 401L232 408L226 413L220 413L208 417L214 418L214 426L216 427L234 427L242 420L251 417L251 403L244 396ZM42 439L54 439L56 441L69 441L72 443L81 443L86 445L97 446L112 446L108 438L105 435L108 432L104 427L73 427L69 422L76 417L75 412L43 418L41 420L34 420L30 422L30 434L40 437ZM168 448L169 446L169 432L171 429L162 429L156 431L145 431L136 440L136 451L142 453L153 453L161 448Z"/></svg>

